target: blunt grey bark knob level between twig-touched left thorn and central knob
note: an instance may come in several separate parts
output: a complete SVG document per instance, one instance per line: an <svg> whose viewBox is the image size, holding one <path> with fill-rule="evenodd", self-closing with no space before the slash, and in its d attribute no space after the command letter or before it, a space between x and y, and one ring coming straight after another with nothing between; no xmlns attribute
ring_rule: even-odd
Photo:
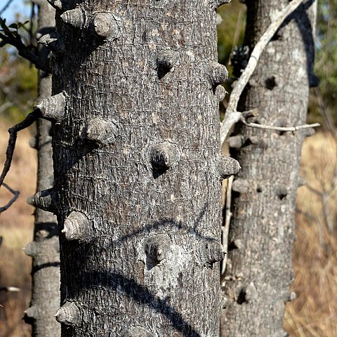
<svg viewBox="0 0 337 337"><path fill-rule="evenodd" d="M85 128L85 137L97 145L113 143L118 133L117 124L114 121L105 121L96 117L88 121Z"/></svg>

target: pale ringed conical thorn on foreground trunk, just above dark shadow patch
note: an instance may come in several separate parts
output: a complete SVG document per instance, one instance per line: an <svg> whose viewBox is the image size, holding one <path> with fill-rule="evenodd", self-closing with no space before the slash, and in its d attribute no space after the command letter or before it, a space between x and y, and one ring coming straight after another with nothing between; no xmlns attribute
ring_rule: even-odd
<svg viewBox="0 0 337 337"><path fill-rule="evenodd" d="M62 233L67 240L90 242L93 238L93 226L84 213L72 211L65 219Z"/></svg>

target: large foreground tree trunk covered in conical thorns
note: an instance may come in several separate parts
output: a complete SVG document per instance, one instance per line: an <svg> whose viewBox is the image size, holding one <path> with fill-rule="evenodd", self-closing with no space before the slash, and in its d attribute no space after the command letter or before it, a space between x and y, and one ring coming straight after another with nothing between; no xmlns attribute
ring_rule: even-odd
<svg viewBox="0 0 337 337"><path fill-rule="evenodd" d="M62 336L219 336L216 5L53 1ZM79 3L79 5L77 4ZM62 46L60 44L60 46Z"/></svg>

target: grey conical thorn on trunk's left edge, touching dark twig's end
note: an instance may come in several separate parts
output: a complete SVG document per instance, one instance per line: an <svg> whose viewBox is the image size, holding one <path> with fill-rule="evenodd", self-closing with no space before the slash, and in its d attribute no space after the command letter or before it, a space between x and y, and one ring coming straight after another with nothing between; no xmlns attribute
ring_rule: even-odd
<svg viewBox="0 0 337 337"><path fill-rule="evenodd" d="M44 98L36 107L40 110L44 119L59 123L65 115L65 93L58 93L57 95Z"/></svg>

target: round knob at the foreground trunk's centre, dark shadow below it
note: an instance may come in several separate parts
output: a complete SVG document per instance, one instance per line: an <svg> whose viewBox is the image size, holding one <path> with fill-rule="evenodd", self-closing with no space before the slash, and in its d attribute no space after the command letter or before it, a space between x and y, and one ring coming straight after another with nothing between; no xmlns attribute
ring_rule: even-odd
<svg viewBox="0 0 337 337"><path fill-rule="evenodd" d="M178 150L169 142L154 145L150 151L150 162L154 169L167 171L179 160Z"/></svg>

